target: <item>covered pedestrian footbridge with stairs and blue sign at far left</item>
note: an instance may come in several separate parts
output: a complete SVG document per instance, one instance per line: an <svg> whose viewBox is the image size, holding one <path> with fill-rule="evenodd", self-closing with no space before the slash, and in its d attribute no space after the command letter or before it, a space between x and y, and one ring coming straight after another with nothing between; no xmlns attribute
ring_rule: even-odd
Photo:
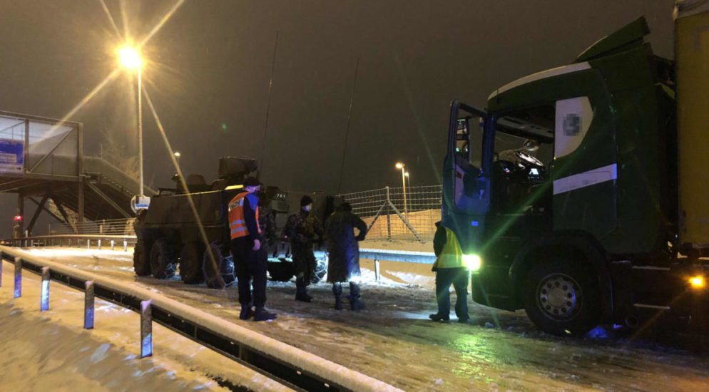
<svg viewBox="0 0 709 392"><path fill-rule="evenodd" d="M81 123L0 111L0 192L18 195L17 215L24 216L27 202L36 205L15 232L31 234L42 212L73 231L84 220L133 217L139 185L106 160L83 155Z"/></svg>

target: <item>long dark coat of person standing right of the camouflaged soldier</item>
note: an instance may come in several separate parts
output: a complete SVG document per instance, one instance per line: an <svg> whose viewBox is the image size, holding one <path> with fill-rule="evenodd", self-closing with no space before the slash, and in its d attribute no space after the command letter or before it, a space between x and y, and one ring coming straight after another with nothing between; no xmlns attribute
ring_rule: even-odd
<svg viewBox="0 0 709 392"><path fill-rule="evenodd" d="M327 282L349 282L359 276L359 245L367 234L367 224L352 212L335 212L325 225L327 235ZM354 236L354 229L359 234Z"/></svg>

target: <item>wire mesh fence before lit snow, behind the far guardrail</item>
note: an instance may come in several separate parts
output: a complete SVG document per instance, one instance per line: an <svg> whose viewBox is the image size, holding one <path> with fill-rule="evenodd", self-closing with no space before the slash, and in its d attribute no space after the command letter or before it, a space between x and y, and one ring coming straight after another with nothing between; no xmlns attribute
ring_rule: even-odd
<svg viewBox="0 0 709 392"><path fill-rule="evenodd" d="M369 226L367 239L430 241L441 219L440 185L384 187L340 195ZM405 197L404 197L405 193Z"/></svg>

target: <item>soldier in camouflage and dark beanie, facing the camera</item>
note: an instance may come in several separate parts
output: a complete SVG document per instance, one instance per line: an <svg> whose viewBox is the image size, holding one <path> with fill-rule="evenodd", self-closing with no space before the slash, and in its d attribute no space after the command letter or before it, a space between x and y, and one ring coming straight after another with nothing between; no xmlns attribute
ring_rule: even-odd
<svg viewBox="0 0 709 392"><path fill-rule="evenodd" d="M322 239L323 229L320 220L310 213L312 199L303 196L300 199L300 211L290 215L283 229L283 234L290 239L290 249L295 269L295 300L310 302L312 297L307 294L307 285L310 284L315 273L315 254L312 244Z"/></svg>

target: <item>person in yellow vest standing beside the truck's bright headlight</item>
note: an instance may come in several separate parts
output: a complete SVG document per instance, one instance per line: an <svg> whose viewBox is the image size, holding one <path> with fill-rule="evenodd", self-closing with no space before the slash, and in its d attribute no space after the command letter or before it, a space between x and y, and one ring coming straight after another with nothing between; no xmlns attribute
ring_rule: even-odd
<svg viewBox="0 0 709 392"><path fill-rule="evenodd" d="M432 271L436 272L436 300L438 312L431 314L433 321L449 321L451 313L451 284L456 292L456 316L458 322L465 323L468 316L468 269L463 264L463 252L455 233L441 222L436 222L436 234L433 239L436 261Z"/></svg>

